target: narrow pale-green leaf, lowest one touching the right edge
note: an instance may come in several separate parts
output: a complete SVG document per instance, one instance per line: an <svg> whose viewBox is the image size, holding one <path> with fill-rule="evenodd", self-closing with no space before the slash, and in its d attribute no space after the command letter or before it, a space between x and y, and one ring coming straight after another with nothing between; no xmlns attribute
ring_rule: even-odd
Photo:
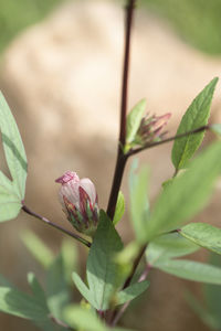
<svg viewBox="0 0 221 331"><path fill-rule="evenodd" d="M211 265L188 259L160 259L155 267L180 278L221 285L221 268Z"/></svg>

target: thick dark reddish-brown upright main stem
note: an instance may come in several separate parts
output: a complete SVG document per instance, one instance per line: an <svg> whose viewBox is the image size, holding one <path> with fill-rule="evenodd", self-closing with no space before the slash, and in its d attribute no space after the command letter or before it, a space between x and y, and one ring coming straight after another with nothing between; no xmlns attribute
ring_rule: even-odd
<svg viewBox="0 0 221 331"><path fill-rule="evenodd" d="M110 217L110 220L114 218L117 196L122 184L125 164L127 161L127 156L124 154L123 148L125 146L125 140L126 140L129 54L130 54L131 25L133 25L135 3L136 0L128 0L128 3L126 6L125 50L124 50L124 68L123 68L123 82L122 82L120 127L119 127L119 141L118 141L119 145L117 151L115 173L114 173L114 179L112 183L112 190L110 190L109 201L107 206L107 215Z"/></svg>

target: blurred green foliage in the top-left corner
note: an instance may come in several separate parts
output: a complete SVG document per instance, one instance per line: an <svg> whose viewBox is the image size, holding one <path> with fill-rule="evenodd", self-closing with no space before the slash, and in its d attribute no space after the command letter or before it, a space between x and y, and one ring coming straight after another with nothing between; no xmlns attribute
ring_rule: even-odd
<svg viewBox="0 0 221 331"><path fill-rule="evenodd" d="M64 0L0 0L0 52L24 28L43 19Z"/></svg>

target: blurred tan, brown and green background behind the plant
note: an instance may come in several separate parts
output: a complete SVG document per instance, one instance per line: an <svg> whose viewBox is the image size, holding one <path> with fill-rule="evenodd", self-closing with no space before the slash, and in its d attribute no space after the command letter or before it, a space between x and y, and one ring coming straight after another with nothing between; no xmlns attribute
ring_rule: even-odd
<svg viewBox="0 0 221 331"><path fill-rule="evenodd" d="M67 228L57 202L59 186L54 183L64 171L74 170L80 177L91 178L97 188L99 205L107 204L118 136L124 3L123 0L0 0L0 88L17 118L27 149L25 203ZM129 105L146 97L148 113L172 113L168 125L171 135L194 96L220 75L220 15L221 0L138 1ZM212 104L213 122L221 118L220 87L219 84ZM206 143L212 139L207 136ZM172 175L170 150L171 145L167 145L139 158L140 163L151 169L151 201L160 183ZM0 156L1 168L7 172L2 150ZM126 196L127 172L123 183ZM219 186L197 221L219 225ZM133 236L128 218L126 215L119 224L125 242ZM38 234L54 254L64 238L24 214L1 224L0 273L23 290L28 290L25 279L30 270L43 281L42 269L21 239L27 228ZM73 249L81 252L81 268L85 252L82 247ZM193 258L209 257L201 250ZM200 285L154 271L150 290L133 305L134 310L128 310L122 324L141 331L221 330L211 329L193 312L190 306L197 307L194 298L186 300L187 291L203 301ZM218 288L214 292L219 292ZM78 299L76 292L74 296ZM215 302L219 300L220 297ZM39 329L25 320L0 313L0 330Z"/></svg>

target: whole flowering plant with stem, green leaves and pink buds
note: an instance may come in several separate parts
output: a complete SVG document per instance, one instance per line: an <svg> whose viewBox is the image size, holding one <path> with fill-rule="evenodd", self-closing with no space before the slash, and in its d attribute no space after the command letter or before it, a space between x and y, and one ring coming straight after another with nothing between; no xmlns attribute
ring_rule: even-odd
<svg viewBox="0 0 221 331"><path fill-rule="evenodd" d="M0 310L29 319L41 330L123 330L116 325L130 301L151 286L149 274L152 269L189 280L221 285L220 267L178 258L200 247L221 254L220 228L207 223L189 223L207 203L221 172L220 141L211 143L196 156L207 130L221 134L220 125L208 125L218 78L213 78L191 103L176 136L166 138L166 132L162 132L170 114L145 117L145 100L139 102L127 115L130 32L135 4L136 0L128 0L126 7L119 139L106 211L98 207L93 182L87 178L80 179L73 171L66 171L55 180L61 184L59 199L73 231L49 221L27 206L27 156L14 118L3 95L0 95L2 145L12 178L10 181L0 172L0 222L15 218L22 210L88 249L86 281L83 281L73 265L73 246L63 247L54 259L45 245L40 244L32 234L28 246L46 270L45 289L33 274L28 277L32 295L20 291L0 277ZM148 168L144 167L137 172L134 168L131 170L128 205L135 238L124 246L115 226L125 212L125 199L119 190L127 160L169 141L173 141L171 161L175 172L171 179L162 183L154 206L150 206L147 197ZM183 169L186 171L181 171ZM39 254L39 250L43 254ZM145 266L139 270L141 260ZM72 303L71 284L82 295L83 299L78 305Z"/></svg>

